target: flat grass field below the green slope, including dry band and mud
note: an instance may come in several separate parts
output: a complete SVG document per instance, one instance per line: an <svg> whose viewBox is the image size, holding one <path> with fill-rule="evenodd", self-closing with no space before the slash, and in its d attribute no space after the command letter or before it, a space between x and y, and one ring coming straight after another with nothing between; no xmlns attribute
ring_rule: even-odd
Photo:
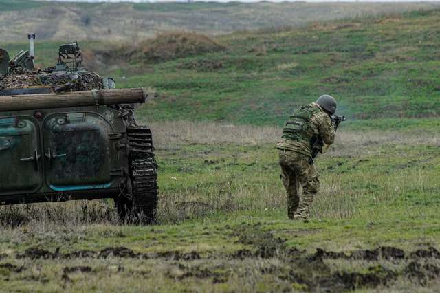
<svg viewBox="0 0 440 293"><path fill-rule="evenodd" d="M285 212L280 129L152 126L159 225L117 224L105 201L3 207L2 290L436 291L438 135L342 128L303 223Z"/></svg>

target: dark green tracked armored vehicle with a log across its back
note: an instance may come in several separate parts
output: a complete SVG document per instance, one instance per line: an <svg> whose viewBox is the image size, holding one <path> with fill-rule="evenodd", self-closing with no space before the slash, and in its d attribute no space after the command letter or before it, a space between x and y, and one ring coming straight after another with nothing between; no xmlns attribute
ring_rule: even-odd
<svg viewBox="0 0 440 293"><path fill-rule="evenodd" d="M0 203L113 198L122 219L156 219L151 130L138 125L142 89L115 89L83 67L78 43L58 63L34 66L30 49L0 49Z"/></svg>

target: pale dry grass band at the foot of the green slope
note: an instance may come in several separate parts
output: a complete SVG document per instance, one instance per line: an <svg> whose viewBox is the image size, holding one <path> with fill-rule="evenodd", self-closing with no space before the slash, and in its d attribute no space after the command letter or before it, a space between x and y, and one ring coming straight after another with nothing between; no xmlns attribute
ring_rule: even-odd
<svg viewBox="0 0 440 293"><path fill-rule="evenodd" d="M266 144L281 137L281 127L257 127L253 125L224 124L216 122L147 122L155 135L157 147L177 144ZM335 144L329 155L353 155L366 148L380 144L426 144L440 145L440 135L423 131L345 131L336 133Z"/></svg>

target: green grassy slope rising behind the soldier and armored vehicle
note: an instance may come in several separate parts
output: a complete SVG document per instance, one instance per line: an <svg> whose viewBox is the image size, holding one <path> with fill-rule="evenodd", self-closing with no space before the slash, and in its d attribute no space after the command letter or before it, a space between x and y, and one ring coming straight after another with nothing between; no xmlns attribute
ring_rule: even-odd
<svg viewBox="0 0 440 293"><path fill-rule="evenodd" d="M205 54L186 37L167 46L176 41L169 34L122 46L81 44L89 64L119 87L157 92L140 109L148 120L282 124L292 109L328 93L351 127L432 129L440 114L439 21L440 10L430 10L236 32L212 40L225 50ZM44 65L56 59L58 43L38 43ZM167 47L180 51L151 57Z"/></svg>

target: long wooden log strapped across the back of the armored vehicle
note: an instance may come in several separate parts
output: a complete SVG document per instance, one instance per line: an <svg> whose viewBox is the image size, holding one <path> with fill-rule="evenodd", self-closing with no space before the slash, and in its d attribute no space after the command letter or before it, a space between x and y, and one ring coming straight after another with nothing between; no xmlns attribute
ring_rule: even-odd
<svg viewBox="0 0 440 293"><path fill-rule="evenodd" d="M145 102L143 89L99 89L63 94L0 96L0 111L39 110Z"/></svg>

